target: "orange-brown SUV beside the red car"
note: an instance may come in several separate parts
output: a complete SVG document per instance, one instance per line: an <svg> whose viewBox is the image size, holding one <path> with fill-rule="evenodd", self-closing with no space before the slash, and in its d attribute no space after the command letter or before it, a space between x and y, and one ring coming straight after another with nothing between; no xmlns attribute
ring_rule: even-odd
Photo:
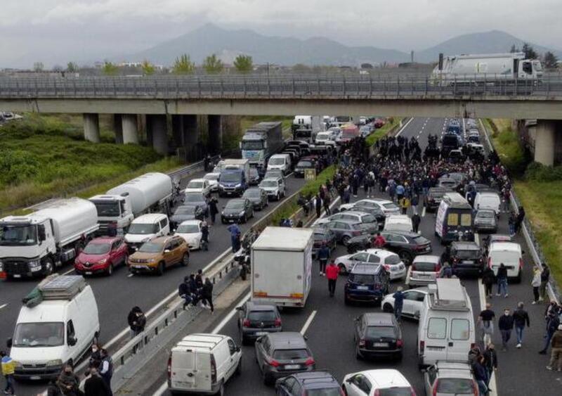
<svg viewBox="0 0 562 396"><path fill-rule="evenodd" d="M175 264L183 267L189 264L188 243L181 236L160 236L145 242L127 262L131 274L150 272L160 276Z"/></svg>

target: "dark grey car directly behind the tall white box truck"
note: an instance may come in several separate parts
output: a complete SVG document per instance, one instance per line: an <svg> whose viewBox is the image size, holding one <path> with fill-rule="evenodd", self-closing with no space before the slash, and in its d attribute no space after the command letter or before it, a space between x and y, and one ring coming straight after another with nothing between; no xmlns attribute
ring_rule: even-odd
<svg viewBox="0 0 562 396"><path fill-rule="evenodd" d="M242 345L268 333L282 331L281 315L275 305L261 305L251 301L237 307L238 331Z"/></svg>

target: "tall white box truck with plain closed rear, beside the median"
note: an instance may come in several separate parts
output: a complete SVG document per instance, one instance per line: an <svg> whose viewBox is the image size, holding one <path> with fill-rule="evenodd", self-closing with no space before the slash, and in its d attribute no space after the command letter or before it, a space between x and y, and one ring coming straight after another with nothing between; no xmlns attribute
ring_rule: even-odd
<svg viewBox="0 0 562 396"><path fill-rule="evenodd" d="M312 283L312 248L312 229L264 229L251 245L251 300L304 307Z"/></svg>

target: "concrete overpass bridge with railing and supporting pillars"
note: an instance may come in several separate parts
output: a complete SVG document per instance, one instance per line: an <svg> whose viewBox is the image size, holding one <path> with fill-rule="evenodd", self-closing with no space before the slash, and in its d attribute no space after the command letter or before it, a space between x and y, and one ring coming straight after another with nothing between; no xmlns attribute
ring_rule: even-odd
<svg viewBox="0 0 562 396"><path fill-rule="evenodd" d="M197 115L209 115L209 140L221 141L221 115L393 115L537 120L535 159L554 161L562 132L562 77L509 82L501 76L431 77L151 76L0 77L0 108L82 113L86 139L99 141L98 114L120 119L117 139L138 143L146 115L152 145L167 151L166 117L184 145L197 141ZM122 139L120 139L122 136Z"/></svg>

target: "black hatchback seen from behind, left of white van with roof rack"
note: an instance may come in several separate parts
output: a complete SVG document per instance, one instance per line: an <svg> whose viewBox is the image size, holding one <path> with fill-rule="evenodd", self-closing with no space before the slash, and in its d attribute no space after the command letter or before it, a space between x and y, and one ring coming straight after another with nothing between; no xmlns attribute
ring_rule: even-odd
<svg viewBox="0 0 562 396"><path fill-rule="evenodd" d="M355 318L355 357L393 357L402 359L402 330L394 314L369 312Z"/></svg>

